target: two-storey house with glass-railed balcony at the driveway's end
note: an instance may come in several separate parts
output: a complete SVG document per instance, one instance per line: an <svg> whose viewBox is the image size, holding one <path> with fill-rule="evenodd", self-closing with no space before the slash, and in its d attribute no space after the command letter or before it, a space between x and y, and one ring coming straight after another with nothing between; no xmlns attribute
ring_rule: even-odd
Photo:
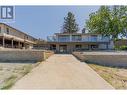
<svg viewBox="0 0 127 95"><path fill-rule="evenodd" d="M55 33L47 37L50 50L58 53L71 53L81 50L108 50L113 49L110 37L91 33Z"/></svg>

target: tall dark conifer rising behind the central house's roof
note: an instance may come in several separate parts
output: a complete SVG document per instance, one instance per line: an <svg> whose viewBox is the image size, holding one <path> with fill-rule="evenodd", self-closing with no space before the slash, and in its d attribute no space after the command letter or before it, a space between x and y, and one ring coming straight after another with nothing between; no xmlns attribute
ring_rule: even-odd
<svg viewBox="0 0 127 95"><path fill-rule="evenodd" d="M76 33L79 30L73 13L68 12L67 17L64 18L63 33Z"/></svg>

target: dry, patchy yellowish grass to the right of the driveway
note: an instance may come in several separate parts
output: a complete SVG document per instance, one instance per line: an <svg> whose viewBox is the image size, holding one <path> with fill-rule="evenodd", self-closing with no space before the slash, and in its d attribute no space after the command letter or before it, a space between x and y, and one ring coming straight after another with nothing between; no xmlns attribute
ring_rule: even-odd
<svg viewBox="0 0 127 95"><path fill-rule="evenodd" d="M88 64L116 89L127 89L127 69Z"/></svg>

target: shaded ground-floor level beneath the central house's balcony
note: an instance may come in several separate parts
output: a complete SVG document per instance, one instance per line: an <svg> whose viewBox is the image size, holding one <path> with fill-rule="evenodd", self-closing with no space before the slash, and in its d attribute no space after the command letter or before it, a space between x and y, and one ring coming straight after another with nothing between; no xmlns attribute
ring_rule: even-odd
<svg viewBox="0 0 127 95"><path fill-rule="evenodd" d="M51 43L49 49L56 53L72 53L74 51L108 50L109 43Z"/></svg>

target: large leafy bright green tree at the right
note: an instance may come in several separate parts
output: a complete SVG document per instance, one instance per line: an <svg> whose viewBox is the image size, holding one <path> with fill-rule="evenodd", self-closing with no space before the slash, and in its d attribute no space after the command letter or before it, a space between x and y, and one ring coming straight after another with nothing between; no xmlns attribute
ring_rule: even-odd
<svg viewBox="0 0 127 95"><path fill-rule="evenodd" d="M101 6L98 11L91 13L86 22L87 29L92 33L118 38L125 36L127 29L126 6Z"/></svg>

